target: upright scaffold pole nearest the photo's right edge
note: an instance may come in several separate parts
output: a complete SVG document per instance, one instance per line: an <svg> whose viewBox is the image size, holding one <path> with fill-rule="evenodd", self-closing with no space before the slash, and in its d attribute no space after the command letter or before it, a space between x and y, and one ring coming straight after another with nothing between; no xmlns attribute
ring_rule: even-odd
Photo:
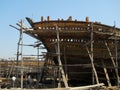
<svg viewBox="0 0 120 90"><path fill-rule="evenodd" d="M117 42L117 36L116 36L116 28L115 28L115 22L114 22L114 35L115 35L115 62L116 62L116 76L117 76L117 86L119 86L119 73L118 73L118 42Z"/></svg>

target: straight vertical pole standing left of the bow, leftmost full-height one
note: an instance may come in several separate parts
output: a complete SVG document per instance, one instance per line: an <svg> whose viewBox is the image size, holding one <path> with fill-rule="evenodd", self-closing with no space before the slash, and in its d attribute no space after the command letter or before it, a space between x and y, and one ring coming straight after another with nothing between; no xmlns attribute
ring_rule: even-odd
<svg viewBox="0 0 120 90"><path fill-rule="evenodd" d="M20 36L20 40L21 40L21 88L23 88L23 29L22 29L22 26L23 26L23 22L21 20L21 36Z"/></svg>

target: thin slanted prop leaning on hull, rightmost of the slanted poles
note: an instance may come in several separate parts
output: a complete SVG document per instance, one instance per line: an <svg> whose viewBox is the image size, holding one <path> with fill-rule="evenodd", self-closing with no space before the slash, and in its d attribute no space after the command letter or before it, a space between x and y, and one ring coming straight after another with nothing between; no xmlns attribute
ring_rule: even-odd
<svg viewBox="0 0 120 90"><path fill-rule="evenodd" d="M116 67L116 63L115 63L115 61L114 61L114 58L113 58L113 56L112 56L112 53L111 53L110 48L108 47L108 44L107 44L106 41L105 41L105 45L106 45L106 47L107 47L107 50L108 50L108 52L109 52L109 56L110 56L110 58L111 58L111 60L112 60L113 66L114 66L114 68L115 68L115 73L116 73L117 81L119 81L119 74L118 74L118 70L117 70L118 67Z"/></svg>

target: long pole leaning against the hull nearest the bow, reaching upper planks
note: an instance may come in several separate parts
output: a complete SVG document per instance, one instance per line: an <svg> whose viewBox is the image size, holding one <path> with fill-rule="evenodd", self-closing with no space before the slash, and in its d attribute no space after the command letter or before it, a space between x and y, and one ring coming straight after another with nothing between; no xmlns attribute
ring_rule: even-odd
<svg viewBox="0 0 120 90"><path fill-rule="evenodd" d="M62 68L62 62L61 62L61 58L60 58L60 43L59 43L60 39L59 39L59 31L58 31L57 25L56 25L56 34L57 34L57 56L58 56L59 70L62 74L62 78L63 78L65 87L68 87L68 83L67 83L67 80L65 77L64 70Z"/></svg>

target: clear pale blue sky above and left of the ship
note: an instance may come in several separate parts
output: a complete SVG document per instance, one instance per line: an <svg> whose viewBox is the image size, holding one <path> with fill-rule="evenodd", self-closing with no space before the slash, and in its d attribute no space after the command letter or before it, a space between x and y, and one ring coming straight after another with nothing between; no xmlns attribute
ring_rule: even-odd
<svg viewBox="0 0 120 90"><path fill-rule="evenodd" d="M15 57L19 32L9 25L15 25L25 17L40 21L40 17L50 16L51 19L98 21L107 25L120 27L120 0L0 0L0 58ZM34 43L30 36L24 38L24 43ZM36 49L25 47L24 53L36 53Z"/></svg>

